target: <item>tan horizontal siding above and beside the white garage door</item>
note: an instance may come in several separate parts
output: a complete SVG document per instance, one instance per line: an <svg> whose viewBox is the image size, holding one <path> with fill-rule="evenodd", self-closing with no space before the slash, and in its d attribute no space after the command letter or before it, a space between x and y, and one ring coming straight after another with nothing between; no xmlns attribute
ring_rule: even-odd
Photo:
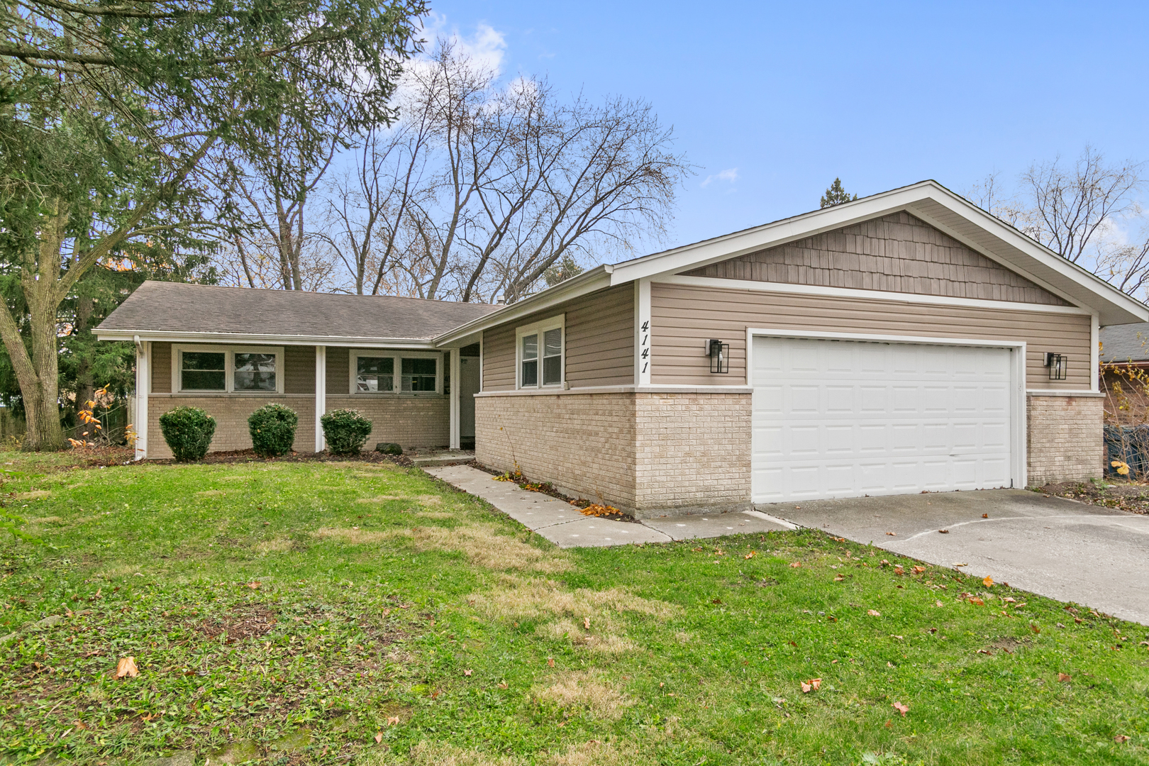
<svg viewBox="0 0 1149 766"><path fill-rule="evenodd" d="M1025 341L1027 388L1088 389L1089 317L867 299L791 295L680 285L650 286L651 382L743 385L746 328ZM730 343L730 373L711 374L702 342ZM1049 380L1046 351L1069 357L1066 380Z"/></svg>

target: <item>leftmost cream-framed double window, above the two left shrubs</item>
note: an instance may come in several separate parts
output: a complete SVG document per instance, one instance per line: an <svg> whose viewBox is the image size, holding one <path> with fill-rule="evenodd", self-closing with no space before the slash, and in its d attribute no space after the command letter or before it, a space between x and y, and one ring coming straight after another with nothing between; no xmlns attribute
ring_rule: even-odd
<svg viewBox="0 0 1149 766"><path fill-rule="evenodd" d="M280 347L173 346L175 392L282 394Z"/></svg>

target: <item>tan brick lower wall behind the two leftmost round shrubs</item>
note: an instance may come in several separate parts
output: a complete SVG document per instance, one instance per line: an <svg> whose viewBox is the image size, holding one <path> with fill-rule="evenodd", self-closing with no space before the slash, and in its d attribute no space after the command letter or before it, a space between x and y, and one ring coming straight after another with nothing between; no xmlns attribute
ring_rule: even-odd
<svg viewBox="0 0 1149 766"><path fill-rule="evenodd" d="M171 457L171 450L160 431L160 416L177 407L198 407L216 419L215 436L209 450L223 452L232 449L250 449L252 435L247 431L247 418L264 404L285 404L299 415L295 428L296 452L315 451L315 396L308 394L283 394L279 396L185 396L152 394L147 405L147 456L149 458Z"/></svg>

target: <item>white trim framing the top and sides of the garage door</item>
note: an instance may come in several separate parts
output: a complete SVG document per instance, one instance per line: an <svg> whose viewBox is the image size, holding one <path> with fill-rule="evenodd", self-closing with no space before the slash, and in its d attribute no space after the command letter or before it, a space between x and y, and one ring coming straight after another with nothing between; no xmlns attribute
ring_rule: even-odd
<svg viewBox="0 0 1149 766"><path fill-rule="evenodd" d="M1026 392L1025 389L1025 341L986 340L984 338L919 338L915 335L877 335L867 333L833 333L804 332L794 330L770 330L764 327L746 328L746 380L751 384L754 336L768 335L776 338L809 338L813 340L856 340L877 343L918 343L928 346L982 346L988 348L1008 348L1010 359L1010 387L1013 390L1013 407L1010 408L1010 439L1016 449L1011 449L1011 479L1013 486L1024 489L1028 486L1028 467L1026 443Z"/></svg>

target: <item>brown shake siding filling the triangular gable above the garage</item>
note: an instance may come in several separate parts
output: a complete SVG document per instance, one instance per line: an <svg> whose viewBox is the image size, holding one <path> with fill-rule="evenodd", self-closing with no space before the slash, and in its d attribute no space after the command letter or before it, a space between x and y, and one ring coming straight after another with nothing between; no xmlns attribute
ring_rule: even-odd
<svg viewBox="0 0 1149 766"><path fill-rule="evenodd" d="M1069 305L908 212L719 261L684 276Z"/></svg>

